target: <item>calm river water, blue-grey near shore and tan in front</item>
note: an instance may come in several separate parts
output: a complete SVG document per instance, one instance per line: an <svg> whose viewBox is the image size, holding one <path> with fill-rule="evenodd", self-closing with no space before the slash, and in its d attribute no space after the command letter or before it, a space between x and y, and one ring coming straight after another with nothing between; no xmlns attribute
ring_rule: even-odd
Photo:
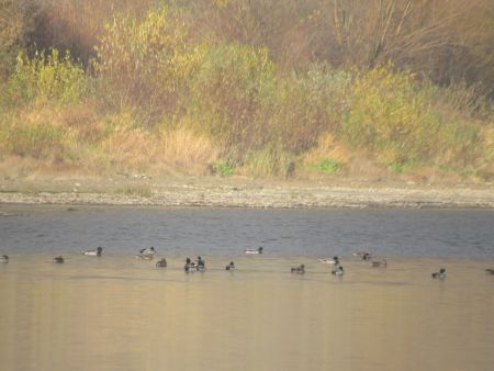
<svg viewBox="0 0 494 371"><path fill-rule="evenodd" d="M494 213L1 206L1 370L492 370ZM104 248L86 257L86 248ZM168 268L135 258L155 246ZM246 256L245 248L265 254ZM371 250L386 268L351 252ZM63 255L64 265L52 262ZM201 255L207 270L187 274ZM341 256L330 274L321 257ZM225 271L231 260L237 269ZM305 274L290 273L304 263ZM446 268L447 278L430 273Z"/></svg>

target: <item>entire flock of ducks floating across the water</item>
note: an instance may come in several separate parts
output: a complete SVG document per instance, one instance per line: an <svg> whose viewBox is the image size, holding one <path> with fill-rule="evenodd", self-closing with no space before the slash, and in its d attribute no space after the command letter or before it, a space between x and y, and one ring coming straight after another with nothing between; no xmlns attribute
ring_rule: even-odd
<svg viewBox="0 0 494 371"><path fill-rule="evenodd" d="M262 254L263 248L262 247L257 247L257 248L249 248L245 250L245 254L257 254L260 255ZM96 249L89 249L89 250L82 250L81 251L82 255L86 256L94 256L94 257L101 257L103 254L103 248L101 246L99 246ZM141 249L138 251L138 254L135 256L137 259L143 259L143 260L153 260L155 258L156 255L156 250L155 247L151 246L149 248L144 248ZM385 259L381 259L381 260L373 260L372 259L372 255L370 251L357 251L352 254L356 257L361 258L363 261L370 261L372 263L372 267L374 268L385 268L388 267L388 261ZM56 263L63 263L64 262L64 257L63 256L57 256L55 258L53 258L53 261ZM334 276L343 276L345 274L345 269L340 263L340 257L338 256L334 256L333 258L328 258L328 259L324 259L321 258L319 259L321 262L326 263L326 265L332 265L335 267L335 269L332 270L332 274ZM1 255L0 256L0 262L9 262L9 257L7 255ZM160 260L158 260L156 262L156 267L157 268L166 268L168 266L167 263L167 259L166 258L161 258ZM206 267L205 267L205 261L204 259L202 259L200 256L198 257L198 259L195 261L193 261L190 258L186 259L186 265L183 266L183 270L187 273L191 273L194 271L205 271ZM231 261L228 265L226 265L225 270L229 270L233 271L235 270L235 262ZM485 269L485 271L489 274L494 274L494 268L487 268ZM292 273L296 273L296 274L304 274L305 273L305 266L304 265L300 265L299 267L292 267L291 268L291 272ZM433 274L434 279L444 279L446 278L446 269L445 268L440 268L439 271L434 272Z"/></svg>

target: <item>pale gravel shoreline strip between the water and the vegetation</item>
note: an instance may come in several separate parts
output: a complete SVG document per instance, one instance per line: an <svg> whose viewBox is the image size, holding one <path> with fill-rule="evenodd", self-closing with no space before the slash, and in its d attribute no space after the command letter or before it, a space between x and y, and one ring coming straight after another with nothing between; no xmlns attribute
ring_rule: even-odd
<svg viewBox="0 0 494 371"><path fill-rule="evenodd" d="M67 184L71 189L67 189ZM122 182L117 182L122 187ZM350 187L262 184L235 181L134 181L125 188L100 184L42 184L35 190L0 189L0 204L143 205L162 207L345 207L345 209L494 209L492 188Z"/></svg>

